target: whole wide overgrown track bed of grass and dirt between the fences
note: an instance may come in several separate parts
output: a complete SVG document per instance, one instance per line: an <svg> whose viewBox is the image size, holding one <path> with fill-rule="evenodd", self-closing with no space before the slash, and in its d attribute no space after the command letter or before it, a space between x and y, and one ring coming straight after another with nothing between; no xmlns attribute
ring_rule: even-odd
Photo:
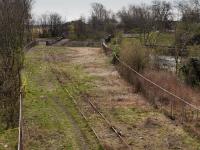
<svg viewBox="0 0 200 150"><path fill-rule="evenodd" d="M93 131L104 149L128 149L94 108L134 150L198 150L200 147L195 138L134 93L100 48L37 46L26 57L27 149L81 149L64 110L77 123L88 149L99 149ZM52 73L49 61L58 78Z"/></svg>

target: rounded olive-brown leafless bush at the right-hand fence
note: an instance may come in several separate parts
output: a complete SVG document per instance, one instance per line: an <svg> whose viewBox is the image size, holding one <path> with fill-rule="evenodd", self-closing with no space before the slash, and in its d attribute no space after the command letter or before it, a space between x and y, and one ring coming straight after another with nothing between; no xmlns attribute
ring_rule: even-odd
<svg viewBox="0 0 200 150"><path fill-rule="evenodd" d="M130 41L124 39L121 42L121 50L119 57L126 64L131 66L138 72L143 72L149 65L149 51L143 47L139 41ZM138 92L141 89L141 84L137 79L137 76L119 63L117 66L120 74L128 80L131 84L135 85L135 89Z"/></svg>

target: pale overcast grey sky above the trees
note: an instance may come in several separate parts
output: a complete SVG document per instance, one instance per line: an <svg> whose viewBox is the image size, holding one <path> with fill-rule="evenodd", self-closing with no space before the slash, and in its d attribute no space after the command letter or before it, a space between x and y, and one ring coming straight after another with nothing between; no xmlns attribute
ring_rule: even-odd
<svg viewBox="0 0 200 150"><path fill-rule="evenodd" d="M37 17L46 12L57 12L70 21L81 15L87 17L93 2L100 2L116 12L128 4L150 3L151 0L35 0L33 13Z"/></svg>

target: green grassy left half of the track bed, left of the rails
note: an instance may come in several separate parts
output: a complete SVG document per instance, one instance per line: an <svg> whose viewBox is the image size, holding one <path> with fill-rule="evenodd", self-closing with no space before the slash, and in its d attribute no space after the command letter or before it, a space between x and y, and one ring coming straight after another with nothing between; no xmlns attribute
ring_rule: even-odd
<svg viewBox="0 0 200 150"><path fill-rule="evenodd" d="M91 78L63 56L68 49L38 46L26 56L24 84L26 149L98 149L99 144L65 88L75 97L87 92ZM49 62L50 61L50 62ZM55 72L52 72L51 67ZM62 72L62 74L60 74ZM56 76L62 81L61 85ZM81 137L79 136L81 135ZM83 138L83 139L82 139ZM83 142L84 141L84 142Z"/></svg>

